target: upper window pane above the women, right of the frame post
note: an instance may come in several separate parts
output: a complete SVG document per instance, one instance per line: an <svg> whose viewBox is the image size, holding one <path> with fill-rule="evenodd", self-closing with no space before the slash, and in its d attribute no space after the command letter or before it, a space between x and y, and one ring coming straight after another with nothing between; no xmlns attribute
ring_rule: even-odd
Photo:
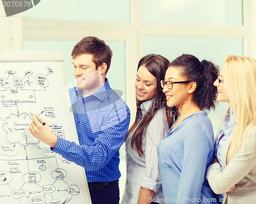
<svg viewBox="0 0 256 204"><path fill-rule="evenodd" d="M243 25L242 0L143 0L143 22Z"/></svg>

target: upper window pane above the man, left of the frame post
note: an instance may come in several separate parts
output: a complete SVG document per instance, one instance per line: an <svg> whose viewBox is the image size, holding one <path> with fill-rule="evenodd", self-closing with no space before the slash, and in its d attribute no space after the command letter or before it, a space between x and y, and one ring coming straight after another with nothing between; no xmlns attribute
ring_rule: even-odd
<svg viewBox="0 0 256 204"><path fill-rule="evenodd" d="M44 0L24 11L25 19L130 22L130 0Z"/></svg>

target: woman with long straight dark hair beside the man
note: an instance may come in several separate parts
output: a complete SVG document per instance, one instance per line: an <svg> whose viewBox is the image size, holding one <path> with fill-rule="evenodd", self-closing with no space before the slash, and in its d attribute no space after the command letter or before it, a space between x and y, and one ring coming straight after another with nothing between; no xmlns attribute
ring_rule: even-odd
<svg viewBox="0 0 256 204"><path fill-rule="evenodd" d="M139 61L136 119L125 139L127 175L122 203L163 203L156 148L176 117L176 108L166 105L160 84L169 64L154 54Z"/></svg>

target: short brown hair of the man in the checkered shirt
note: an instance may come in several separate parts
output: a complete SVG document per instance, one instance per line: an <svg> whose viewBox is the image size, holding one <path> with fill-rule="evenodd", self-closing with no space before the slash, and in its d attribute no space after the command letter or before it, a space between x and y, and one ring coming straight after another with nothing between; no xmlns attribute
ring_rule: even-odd
<svg viewBox="0 0 256 204"><path fill-rule="evenodd" d="M94 36L84 37L80 40L80 42L78 42L75 45L71 53L71 56L74 59L75 57L81 54L92 54L93 62L96 65L96 69L102 63L106 63L106 73L109 71L112 58L112 51L103 40Z"/></svg>

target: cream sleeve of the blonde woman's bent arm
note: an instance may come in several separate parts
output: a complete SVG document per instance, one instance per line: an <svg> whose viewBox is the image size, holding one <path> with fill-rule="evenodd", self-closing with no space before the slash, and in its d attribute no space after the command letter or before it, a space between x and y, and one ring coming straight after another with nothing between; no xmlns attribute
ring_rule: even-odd
<svg viewBox="0 0 256 204"><path fill-rule="evenodd" d="M215 193L226 193L256 166L255 130L246 135L238 153L231 158L225 169L221 170L220 164L212 164L207 169L206 178Z"/></svg>

